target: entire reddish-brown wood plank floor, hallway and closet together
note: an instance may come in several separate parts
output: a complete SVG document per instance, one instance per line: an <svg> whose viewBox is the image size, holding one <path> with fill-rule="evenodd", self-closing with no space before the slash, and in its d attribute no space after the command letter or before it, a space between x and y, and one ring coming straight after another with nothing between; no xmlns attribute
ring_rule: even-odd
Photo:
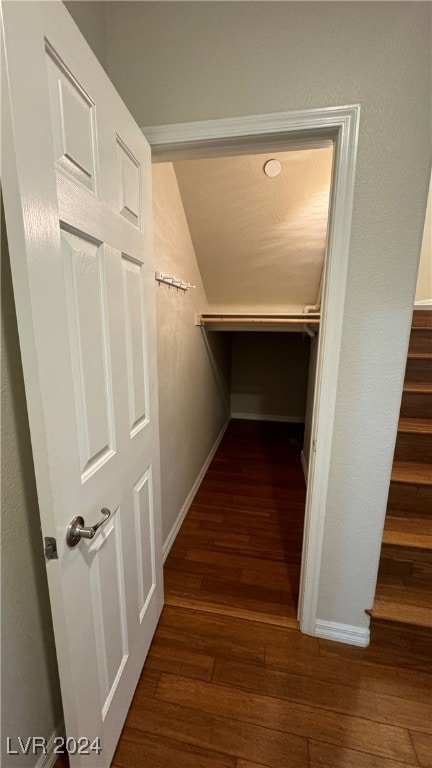
<svg viewBox="0 0 432 768"><path fill-rule="evenodd" d="M167 559L166 606L112 768L430 768L430 648L296 624L297 427L231 422Z"/></svg>

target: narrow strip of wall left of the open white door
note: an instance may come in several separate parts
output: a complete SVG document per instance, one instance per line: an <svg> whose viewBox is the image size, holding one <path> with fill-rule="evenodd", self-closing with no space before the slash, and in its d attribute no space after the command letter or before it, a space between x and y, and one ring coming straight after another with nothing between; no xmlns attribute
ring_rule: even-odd
<svg viewBox="0 0 432 768"><path fill-rule="evenodd" d="M1 765L25 768L5 737L48 739L62 708L3 211L1 294Z"/></svg>

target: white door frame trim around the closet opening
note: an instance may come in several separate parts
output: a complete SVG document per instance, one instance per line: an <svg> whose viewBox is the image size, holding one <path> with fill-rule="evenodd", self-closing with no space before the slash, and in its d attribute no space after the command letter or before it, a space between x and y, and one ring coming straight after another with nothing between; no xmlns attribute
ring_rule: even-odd
<svg viewBox="0 0 432 768"><path fill-rule="evenodd" d="M317 602L340 364L360 105L142 128L156 161L334 142L333 177L306 496L298 618L317 634Z"/></svg>

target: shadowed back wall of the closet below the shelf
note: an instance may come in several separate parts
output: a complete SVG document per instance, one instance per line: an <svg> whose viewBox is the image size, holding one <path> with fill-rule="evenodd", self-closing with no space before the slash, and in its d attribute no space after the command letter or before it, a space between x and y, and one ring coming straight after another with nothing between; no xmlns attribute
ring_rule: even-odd
<svg viewBox="0 0 432 768"><path fill-rule="evenodd" d="M304 421L309 336L233 333L231 360L233 415Z"/></svg>

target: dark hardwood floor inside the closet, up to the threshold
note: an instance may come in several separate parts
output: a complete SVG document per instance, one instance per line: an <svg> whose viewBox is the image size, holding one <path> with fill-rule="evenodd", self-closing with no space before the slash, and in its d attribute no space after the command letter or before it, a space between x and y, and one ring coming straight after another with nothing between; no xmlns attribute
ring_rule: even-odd
<svg viewBox="0 0 432 768"><path fill-rule="evenodd" d="M165 564L167 605L297 627L302 426L232 421Z"/></svg>

